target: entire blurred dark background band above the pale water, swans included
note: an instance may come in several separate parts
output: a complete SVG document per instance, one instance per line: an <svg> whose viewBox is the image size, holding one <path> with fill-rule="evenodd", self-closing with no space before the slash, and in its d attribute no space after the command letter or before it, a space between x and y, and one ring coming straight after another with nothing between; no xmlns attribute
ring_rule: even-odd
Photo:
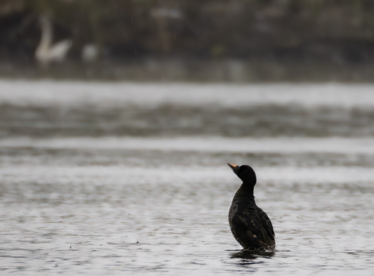
<svg viewBox="0 0 374 276"><path fill-rule="evenodd" d="M373 18L368 0L3 0L0 77L372 83Z"/></svg>

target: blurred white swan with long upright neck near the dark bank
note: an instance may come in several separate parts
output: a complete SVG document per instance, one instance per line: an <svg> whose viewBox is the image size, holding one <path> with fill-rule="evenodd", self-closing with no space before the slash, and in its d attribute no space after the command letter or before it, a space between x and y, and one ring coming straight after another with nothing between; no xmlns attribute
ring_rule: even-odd
<svg viewBox="0 0 374 276"><path fill-rule="evenodd" d="M42 36L35 51L36 60L43 67L47 67L53 61L63 61L71 47L71 40L65 39L52 45L52 24L49 18L40 16L40 25L42 27Z"/></svg>

